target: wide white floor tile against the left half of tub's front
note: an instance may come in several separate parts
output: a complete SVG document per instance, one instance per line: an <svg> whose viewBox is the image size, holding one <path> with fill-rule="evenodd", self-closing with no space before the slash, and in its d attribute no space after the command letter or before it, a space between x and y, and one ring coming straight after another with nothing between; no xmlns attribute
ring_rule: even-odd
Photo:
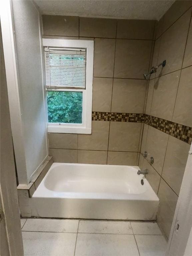
<svg viewBox="0 0 192 256"><path fill-rule="evenodd" d="M76 233L78 220L27 219L22 231Z"/></svg>

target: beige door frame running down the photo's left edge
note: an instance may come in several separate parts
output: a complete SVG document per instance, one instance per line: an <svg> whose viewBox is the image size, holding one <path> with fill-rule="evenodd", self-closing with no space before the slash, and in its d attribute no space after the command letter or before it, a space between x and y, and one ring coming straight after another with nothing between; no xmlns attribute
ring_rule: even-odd
<svg viewBox="0 0 192 256"><path fill-rule="evenodd" d="M2 15L3 10L9 1L0 2L0 19L1 27L6 22ZM6 11L7 13L7 11ZM3 256L23 256L23 241L21 233L21 222L19 203L17 196L16 172L14 163L14 151L10 121L10 111L7 91L7 74L5 72L4 48L3 48L3 31L0 27L0 202L1 202L1 251ZM3 29L2 29L3 30ZM5 31L4 31L5 32ZM11 48L10 48L11 51Z"/></svg>

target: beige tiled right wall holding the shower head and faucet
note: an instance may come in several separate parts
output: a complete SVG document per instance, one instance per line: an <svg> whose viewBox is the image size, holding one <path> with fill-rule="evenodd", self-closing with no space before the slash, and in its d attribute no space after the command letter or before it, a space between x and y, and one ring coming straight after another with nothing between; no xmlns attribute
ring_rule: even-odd
<svg viewBox="0 0 192 256"><path fill-rule="evenodd" d="M149 82L139 159L140 168L149 170L147 179L160 199L157 221L167 237L192 140L191 15L192 1L176 1L156 24L152 65L165 59L167 64Z"/></svg>

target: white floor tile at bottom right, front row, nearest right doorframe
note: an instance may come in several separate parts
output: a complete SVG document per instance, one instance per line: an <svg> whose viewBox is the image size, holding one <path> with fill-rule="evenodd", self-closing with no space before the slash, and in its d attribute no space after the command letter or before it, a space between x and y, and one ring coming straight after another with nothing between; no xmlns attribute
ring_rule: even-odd
<svg viewBox="0 0 192 256"><path fill-rule="evenodd" d="M135 235L140 256L165 256L167 242L163 236Z"/></svg>

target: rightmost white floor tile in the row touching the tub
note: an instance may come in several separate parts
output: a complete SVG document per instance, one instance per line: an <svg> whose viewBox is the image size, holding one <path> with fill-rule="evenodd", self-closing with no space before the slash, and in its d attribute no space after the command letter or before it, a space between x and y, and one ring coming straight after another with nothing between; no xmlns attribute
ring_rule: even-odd
<svg viewBox="0 0 192 256"><path fill-rule="evenodd" d="M162 235L157 223L150 222L131 222L135 235Z"/></svg>

